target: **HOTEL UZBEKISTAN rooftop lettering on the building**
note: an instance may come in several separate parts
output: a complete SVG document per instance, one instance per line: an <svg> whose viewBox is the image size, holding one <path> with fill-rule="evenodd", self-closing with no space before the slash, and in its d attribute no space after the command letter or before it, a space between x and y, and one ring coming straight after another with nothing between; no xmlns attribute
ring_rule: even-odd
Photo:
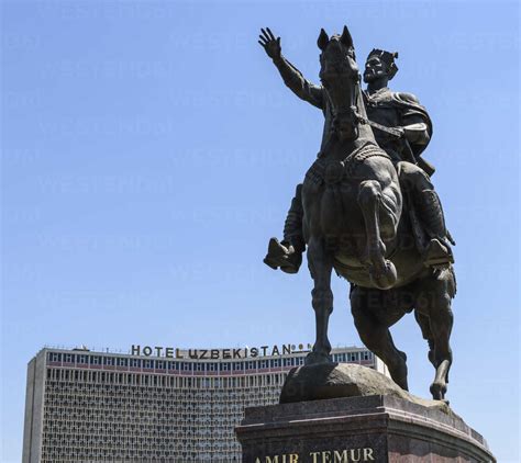
<svg viewBox="0 0 521 463"><path fill-rule="evenodd" d="M131 355L164 357L166 359L193 359L193 360L220 360L220 359L248 359L256 357L289 355L295 352L306 352L312 345L282 345L260 346L253 348L232 349L179 349L163 346L132 345Z"/></svg>

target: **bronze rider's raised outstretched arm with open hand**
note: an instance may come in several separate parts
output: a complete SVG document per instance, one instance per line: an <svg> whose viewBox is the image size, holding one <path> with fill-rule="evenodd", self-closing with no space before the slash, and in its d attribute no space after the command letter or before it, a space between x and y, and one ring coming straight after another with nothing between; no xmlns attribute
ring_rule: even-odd
<svg viewBox="0 0 521 463"><path fill-rule="evenodd" d="M277 67L284 83L300 99L311 103L319 109L324 108L324 95L322 87L311 83L304 79L291 63L289 63L281 54L280 37L275 37L269 27L262 30L258 43L264 47L266 54L273 59Z"/></svg>

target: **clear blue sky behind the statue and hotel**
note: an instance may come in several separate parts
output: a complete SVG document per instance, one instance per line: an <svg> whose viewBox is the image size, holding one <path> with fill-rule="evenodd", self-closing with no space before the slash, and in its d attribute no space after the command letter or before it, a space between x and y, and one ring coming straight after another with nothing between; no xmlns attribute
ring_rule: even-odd
<svg viewBox="0 0 521 463"><path fill-rule="evenodd" d="M27 361L44 346L312 342L311 280L262 263L320 145L257 44L318 81L320 27L358 64L399 50L396 90L434 123L458 293L448 397L519 461L517 2L3 1L2 462L18 462ZM359 345L334 280L334 345ZM412 316L410 385L433 377Z"/></svg>

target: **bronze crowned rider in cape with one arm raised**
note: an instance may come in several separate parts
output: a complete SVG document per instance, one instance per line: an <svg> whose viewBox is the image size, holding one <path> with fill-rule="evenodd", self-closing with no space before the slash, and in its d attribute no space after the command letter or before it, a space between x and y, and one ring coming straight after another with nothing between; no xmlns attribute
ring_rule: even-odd
<svg viewBox="0 0 521 463"><path fill-rule="evenodd" d="M286 86L297 97L324 113L322 148L333 129L333 115L325 104L323 88L306 80L302 74L281 55L280 37L276 38L269 29L262 32L259 44L273 59ZM400 185L410 192L423 233L428 236L423 250L425 264L447 267L454 262L450 246L454 241L446 230L443 210L429 177L434 172L434 168L420 158L431 139L432 124L425 109L414 95L392 92L387 88L388 81L398 71L395 64L397 57L397 53L380 49L373 49L367 57L364 71L364 81L367 83L367 90L364 91L367 117L369 123L392 127L402 134L398 138L396 135L374 128L376 142L395 162ZM284 240L279 242L276 238L271 238L264 260L273 269L280 267L287 273L298 272L302 252L306 250L302 236L301 189L301 184L297 185L284 227Z"/></svg>

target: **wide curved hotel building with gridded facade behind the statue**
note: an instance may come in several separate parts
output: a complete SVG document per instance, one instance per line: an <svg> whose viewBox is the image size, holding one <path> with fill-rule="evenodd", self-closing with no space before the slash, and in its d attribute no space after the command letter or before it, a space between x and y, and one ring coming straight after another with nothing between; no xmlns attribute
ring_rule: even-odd
<svg viewBox="0 0 521 463"><path fill-rule="evenodd" d="M278 402L302 346L141 348L131 353L42 349L27 365L23 463L240 462L245 407ZM336 362L385 373L361 348ZM157 357L162 355L162 357Z"/></svg>

